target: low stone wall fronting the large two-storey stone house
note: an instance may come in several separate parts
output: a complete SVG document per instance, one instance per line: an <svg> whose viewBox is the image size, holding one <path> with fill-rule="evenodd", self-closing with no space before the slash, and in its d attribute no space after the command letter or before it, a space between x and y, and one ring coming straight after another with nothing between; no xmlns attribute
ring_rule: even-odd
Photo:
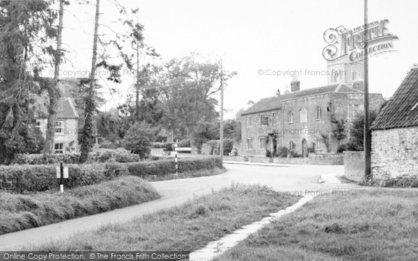
<svg viewBox="0 0 418 261"><path fill-rule="evenodd" d="M309 153L309 157L295 157L295 158L282 158L273 157L273 161L270 158L263 155L250 155L250 156L224 156L225 161L249 161L258 163L275 163L275 164L297 164L297 165L343 165L342 153L327 153L327 154L315 154Z"/></svg>

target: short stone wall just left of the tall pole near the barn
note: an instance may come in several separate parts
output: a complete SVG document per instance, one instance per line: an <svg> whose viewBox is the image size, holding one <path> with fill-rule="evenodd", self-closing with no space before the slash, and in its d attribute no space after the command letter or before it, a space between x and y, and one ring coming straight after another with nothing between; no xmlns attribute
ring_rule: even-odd
<svg viewBox="0 0 418 261"><path fill-rule="evenodd" d="M364 178L364 151L345 151L344 175L348 180L361 181Z"/></svg>

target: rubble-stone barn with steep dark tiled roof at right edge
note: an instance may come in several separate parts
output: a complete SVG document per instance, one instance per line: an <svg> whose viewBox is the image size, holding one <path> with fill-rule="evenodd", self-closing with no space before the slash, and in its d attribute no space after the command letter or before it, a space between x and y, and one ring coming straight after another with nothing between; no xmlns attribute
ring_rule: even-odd
<svg viewBox="0 0 418 261"><path fill-rule="evenodd" d="M418 174L418 65L408 72L371 130L374 178Z"/></svg>

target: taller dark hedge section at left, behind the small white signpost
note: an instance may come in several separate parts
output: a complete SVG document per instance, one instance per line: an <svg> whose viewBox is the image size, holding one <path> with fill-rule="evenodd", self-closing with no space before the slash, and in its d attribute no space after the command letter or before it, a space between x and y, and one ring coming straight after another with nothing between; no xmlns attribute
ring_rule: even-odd
<svg viewBox="0 0 418 261"><path fill-rule="evenodd" d="M127 166L116 161L105 164L70 164L69 178L65 187L97 184L115 177L129 175ZM0 189L22 193L25 191L46 191L59 189L54 165L11 165L0 166Z"/></svg>

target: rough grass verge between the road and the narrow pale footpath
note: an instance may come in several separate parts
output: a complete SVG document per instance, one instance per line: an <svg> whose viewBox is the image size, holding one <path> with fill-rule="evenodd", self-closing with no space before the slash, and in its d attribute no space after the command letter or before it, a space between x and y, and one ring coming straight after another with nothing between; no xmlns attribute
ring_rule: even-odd
<svg viewBox="0 0 418 261"><path fill-rule="evenodd" d="M39 251L194 251L299 198L279 196L266 187L231 186L189 200L179 207L148 214L127 223L111 224L51 242ZM28 246L29 248L29 246Z"/></svg>

